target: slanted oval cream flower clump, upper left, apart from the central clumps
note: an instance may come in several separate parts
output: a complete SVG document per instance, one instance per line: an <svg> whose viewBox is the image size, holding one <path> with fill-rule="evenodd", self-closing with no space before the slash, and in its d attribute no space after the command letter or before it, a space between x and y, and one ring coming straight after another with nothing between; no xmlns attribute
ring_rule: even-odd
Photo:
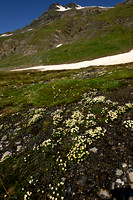
<svg viewBox="0 0 133 200"><path fill-rule="evenodd" d="M45 109L43 109L43 108L39 108L39 109L35 110L35 113L32 116L32 118L30 119L28 126L31 126L31 125L37 123L38 121L40 121L43 118L44 113L45 113Z"/></svg>

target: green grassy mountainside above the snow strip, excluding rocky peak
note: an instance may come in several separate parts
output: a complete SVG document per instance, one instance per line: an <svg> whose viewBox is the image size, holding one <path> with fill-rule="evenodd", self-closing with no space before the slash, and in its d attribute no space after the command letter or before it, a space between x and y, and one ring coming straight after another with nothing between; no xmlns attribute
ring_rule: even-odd
<svg viewBox="0 0 133 200"><path fill-rule="evenodd" d="M132 12L132 3L100 14L84 16L81 11L76 11L74 16L68 14L32 32L14 35L15 40L27 40L38 53L11 54L0 60L0 68L77 62L126 52L133 47ZM68 42L60 48L50 49L55 44L57 32L63 38L58 40L59 43ZM0 42L3 40L5 38L0 38Z"/></svg>

